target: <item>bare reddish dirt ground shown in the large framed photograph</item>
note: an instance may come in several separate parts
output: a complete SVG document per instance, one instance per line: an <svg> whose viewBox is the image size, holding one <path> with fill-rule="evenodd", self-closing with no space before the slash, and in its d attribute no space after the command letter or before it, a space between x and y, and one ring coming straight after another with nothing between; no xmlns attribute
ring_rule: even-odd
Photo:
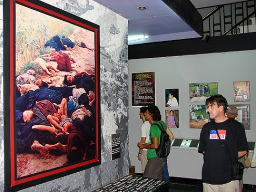
<svg viewBox="0 0 256 192"><path fill-rule="evenodd" d="M84 30L78 33L74 31L74 33L69 37L73 41L80 41L88 44L89 47L94 48L94 39L92 39L90 31ZM53 70L49 71L53 74L53 77L50 77L42 70L42 74L36 75L36 79L41 80L52 80L53 83L49 84L49 86L63 86L63 79L65 74L75 75L76 73L86 71L88 74L95 74L95 51L89 50L87 48L82 48L79 46L75 46L74 50L69 52L70 56L74 59L74 63L71 63L73 71L66 72L60 71L55 72ZM57 67L57 63L55 61L49 61L52 66ZM49 155L48 157L44 157L40 155L40 153L23 153L17 154L17 177L22 177L34 173L39 173L42 171L54 169L57 167L61 167L67 163L67 155Z"/></svg>

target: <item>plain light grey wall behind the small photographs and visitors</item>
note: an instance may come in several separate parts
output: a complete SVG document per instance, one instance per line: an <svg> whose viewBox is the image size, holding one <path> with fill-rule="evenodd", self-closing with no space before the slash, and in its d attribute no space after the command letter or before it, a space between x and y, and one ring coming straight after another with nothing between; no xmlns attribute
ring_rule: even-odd
<svg viewBox="0 0 256 192"><path fill-rule="evenodd" d="M209 44L211 46L211 44ZM164 47L163 47L164 48ZM140 141L139 108L132 106L132 73L155 72L156 106L159 107L162 120L165 117L165 89L175 88L179 91L178 110L179 127L171 131L174 138L199 139L201 129L189 129L190 105L204 105L204 102L189 102L189 83L217 82L219 94L233 105L250 105L250 130L246 130L247 139L254 142L256 138L256 50L225 52L212 54L158 57L148 59L129 59L129 156L136 172L141 171L137 159L137 142ZM233 82L250 81L250 101L234 101ZM250 157L252 151L250 151ZM170 176L184 178L201 178L202 155L197 148L172 147L168 158ZM245 171L246 172L246 171ZM256 169L248 169L244 183L255 184Z"/></svg>

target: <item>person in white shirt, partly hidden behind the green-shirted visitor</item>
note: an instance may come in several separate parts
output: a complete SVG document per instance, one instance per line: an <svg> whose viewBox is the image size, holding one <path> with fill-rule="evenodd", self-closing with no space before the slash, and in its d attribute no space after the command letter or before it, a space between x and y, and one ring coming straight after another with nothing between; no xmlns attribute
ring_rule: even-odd
<svg viewBox="0 0 256 192"><path fill-rule="evenodd" d="M149 131L150 131L150 126L151 124L145 120L144 117L144 113L146 112L147 107L142 107L139 109L139 118L142 119L143 124L140 127L141 132L142 132L142 138L140 139L140 143L148 143L148 139L149 139ZM142 173L144 173L145 167L147 165L148 162L148 158L147 158L147 149L139 149L138 151L138 160L142 161Z"/></svg>

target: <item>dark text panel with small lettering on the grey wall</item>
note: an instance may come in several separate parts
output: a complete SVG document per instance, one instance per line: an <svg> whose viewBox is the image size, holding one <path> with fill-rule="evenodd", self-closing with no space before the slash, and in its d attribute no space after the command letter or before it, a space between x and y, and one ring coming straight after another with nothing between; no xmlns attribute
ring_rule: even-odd
<svg viewBox="0 0 256 192"><path fill-rule="evenodd" d="M132 105L155 105L155 72L132 73Z"/></svg>

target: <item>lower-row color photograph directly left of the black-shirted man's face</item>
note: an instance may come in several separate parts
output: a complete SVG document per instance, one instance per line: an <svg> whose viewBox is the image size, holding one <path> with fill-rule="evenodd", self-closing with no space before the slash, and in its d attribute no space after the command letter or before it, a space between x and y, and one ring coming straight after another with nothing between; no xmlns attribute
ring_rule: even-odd
<svg viewBox="0 0 256 192"><path fill-rule="evenodd" d="M206 105L190 105L189 107L189 128L202 129L203 125L209 122L208 109Z"/></svg>

